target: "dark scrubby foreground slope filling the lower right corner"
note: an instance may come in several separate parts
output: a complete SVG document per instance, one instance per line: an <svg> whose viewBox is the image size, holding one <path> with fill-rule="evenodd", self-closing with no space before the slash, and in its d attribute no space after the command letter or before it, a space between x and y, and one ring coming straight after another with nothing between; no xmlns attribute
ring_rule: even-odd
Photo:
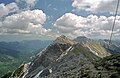
<svg viewBox="0 0 120 78"><path fill-rule="evenodd" d="M57 76L61 78L120 78L120 54L105 57L92 64L89 61L88 64L86 62L81 60L81 62L71 63ZM54 76L47 78L52 77Z"/></svg>

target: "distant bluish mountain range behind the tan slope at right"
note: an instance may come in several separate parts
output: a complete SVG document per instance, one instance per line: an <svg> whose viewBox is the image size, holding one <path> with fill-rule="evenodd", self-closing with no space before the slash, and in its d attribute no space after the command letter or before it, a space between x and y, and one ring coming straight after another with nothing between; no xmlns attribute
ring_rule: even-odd
<svg viewBox="0 0 120 78"><path fill-rule="evenodd" d="M78 43L85 43L85 42L96 42L100 43L101 46L103 46L105 49L110 51L111 53L120 53L120 40L112 40L111 45L109 45L109 40L107 39L99 39L99 40L93 40L90 38L87 38L85 36L79 36L74 39L74 41Z"/></svg>

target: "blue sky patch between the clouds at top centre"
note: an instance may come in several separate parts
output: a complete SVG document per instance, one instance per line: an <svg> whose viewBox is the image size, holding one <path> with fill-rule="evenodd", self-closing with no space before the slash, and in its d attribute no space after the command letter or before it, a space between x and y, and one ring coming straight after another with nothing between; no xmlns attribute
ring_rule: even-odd
<svg viewBox="0 0 120 78"><path fill-rule="evenodd" d="M57 18L72 11L72 1L68 0L41 0L35 5L36 9L41 9L50 19L45 23L46 27L51 26L51 22L55 22Z"/></svg>

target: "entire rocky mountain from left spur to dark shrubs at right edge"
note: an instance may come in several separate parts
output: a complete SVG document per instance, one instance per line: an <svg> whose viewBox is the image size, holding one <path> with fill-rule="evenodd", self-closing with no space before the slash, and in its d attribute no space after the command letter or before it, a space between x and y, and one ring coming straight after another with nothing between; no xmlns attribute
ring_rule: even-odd
<svg viewBox="0 0 120 78"><path fill-rule="evenodd" d="M3 78L118 78L119 58L97 42L79 43L62 35L39 52L34 60Z"/></svg>

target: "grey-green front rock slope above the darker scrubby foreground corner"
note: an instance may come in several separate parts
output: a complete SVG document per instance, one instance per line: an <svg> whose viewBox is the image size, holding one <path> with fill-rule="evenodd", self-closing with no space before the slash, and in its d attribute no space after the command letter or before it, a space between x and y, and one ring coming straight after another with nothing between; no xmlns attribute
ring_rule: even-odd
<svg viewBox="0 0 120 78"><path fill-rule="evenodd" d="M99 59L86 47L76 44L65 57L54 64L53 72L46 78L80 78L80 71L84 68L94 71L93 62Z"/></svg>

